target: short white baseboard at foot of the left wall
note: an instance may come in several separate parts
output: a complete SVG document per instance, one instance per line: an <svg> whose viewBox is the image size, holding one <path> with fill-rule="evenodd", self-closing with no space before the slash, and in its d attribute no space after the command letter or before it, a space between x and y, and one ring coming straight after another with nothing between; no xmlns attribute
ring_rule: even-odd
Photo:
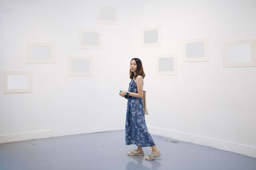
<svg viewBox="0 0 256 170"><path fill-rule="evenodd" d="M43 131L21 132L15 134L1 134L0 143L26 141L30 139L52 138L52 136L53 131L51 129Z"/></svg>

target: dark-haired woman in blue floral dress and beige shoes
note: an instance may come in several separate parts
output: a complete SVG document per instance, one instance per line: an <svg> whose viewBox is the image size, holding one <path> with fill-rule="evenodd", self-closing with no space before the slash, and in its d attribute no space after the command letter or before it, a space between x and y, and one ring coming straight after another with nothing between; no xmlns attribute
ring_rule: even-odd
<svg viewBox="0 0 256 170"><path fill-rule="evenodd" d="M151 146L152 153L145 159L154 160L161 156L161 152L157 149L152 136L149 134L145 122L145 113L143 110L143 78L145 73L141 60L133 58L130 63L129 90L120 92L120 96L128 99L127 113L125 120L125 144L138 146L137 150L128 152L128 155L144 156L142 147Z"/></svg>

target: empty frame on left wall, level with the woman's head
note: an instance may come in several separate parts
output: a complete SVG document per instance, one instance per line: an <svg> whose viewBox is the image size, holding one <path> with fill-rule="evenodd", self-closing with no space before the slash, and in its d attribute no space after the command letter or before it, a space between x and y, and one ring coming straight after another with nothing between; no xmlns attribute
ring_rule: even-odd
<svg viewBox="0 0 256 170"><path fill-rule="evenodd" d="M68 57L69 76L92 76L92 57Z"/></svg>

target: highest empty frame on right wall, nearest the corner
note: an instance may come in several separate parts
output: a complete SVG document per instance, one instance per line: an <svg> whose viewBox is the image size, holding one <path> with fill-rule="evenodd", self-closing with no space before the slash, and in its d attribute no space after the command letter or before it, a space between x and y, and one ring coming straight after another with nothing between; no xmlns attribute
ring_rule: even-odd
<svg viewBox="0 0 256 170"><path fill-rule="evenodd" d="M142 29L142 47L161 46L161 27Z"/></svg>

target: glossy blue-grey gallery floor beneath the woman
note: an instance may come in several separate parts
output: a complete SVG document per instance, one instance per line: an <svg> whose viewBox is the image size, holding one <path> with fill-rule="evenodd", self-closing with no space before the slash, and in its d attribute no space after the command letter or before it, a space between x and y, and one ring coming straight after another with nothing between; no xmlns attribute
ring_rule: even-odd
<svg viewBox="0 0 256 170"><path fill-rule="evenodd" d="M184 141L174 143L152 135L162 156L145 160L128 156L136 145L125 145L125 131L34 139L0 144L0 169L241 169L256 170L256 159ZM143 148L145 155L151 148Z"/></svg>

